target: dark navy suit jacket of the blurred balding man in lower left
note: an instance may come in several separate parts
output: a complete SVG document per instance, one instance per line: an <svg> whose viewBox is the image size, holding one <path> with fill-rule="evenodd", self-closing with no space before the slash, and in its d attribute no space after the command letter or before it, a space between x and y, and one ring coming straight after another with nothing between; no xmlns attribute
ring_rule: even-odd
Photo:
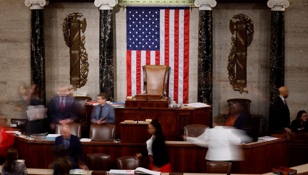
<svg viewBox="0 0 308 175"><path fill-rule="evenodd" d="M56 150L58 149L58 146L61 145L61 144L64 144L64 137L63 136L56 137L55 153L56 153ZM71 135L70 146L68 148L68 155L71 158L71 161L72 161L72 164L73 164L73 169L79 168L78 156L80 157L80 161L84 162L84 157L83 157L83 154L82 154L82 149L81 149L79 137Z"/></svg>

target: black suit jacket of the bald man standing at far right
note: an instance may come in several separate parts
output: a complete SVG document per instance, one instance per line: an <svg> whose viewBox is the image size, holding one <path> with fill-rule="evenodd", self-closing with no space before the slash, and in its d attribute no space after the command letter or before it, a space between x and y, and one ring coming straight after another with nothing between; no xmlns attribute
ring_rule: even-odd
<svg viewBox="0 0 308 175"><path fill-rule="evenodd" d="M276 97L274 104L270 106L269 113L269 130L271 133L276 131L283 131L290 126L290 111L282 99ZM277 132L276 132L277 133Z"/></svg>

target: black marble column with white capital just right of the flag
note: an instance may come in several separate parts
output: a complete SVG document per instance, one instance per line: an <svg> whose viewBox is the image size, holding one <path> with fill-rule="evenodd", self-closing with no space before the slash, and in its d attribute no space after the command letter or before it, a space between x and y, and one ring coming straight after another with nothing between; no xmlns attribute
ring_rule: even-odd
<svg viewBox="0 0 308 175"><path fill-rule="evenodd" d="M213 103L213 15L215 0L196 0L199 7L197 101Z"/></svg>

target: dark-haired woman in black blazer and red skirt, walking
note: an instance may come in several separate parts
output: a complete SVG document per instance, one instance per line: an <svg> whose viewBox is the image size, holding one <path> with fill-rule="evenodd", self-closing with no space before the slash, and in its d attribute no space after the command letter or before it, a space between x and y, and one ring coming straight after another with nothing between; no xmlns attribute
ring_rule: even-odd
<svg viewBox="0 0 308 175"><path fill-rule="evenodd" d="M148 132L152 135L152 137L146 142L147 152L137 153L135 158L138 159L143 155L148 155L150 158L150 170L164 173L172 172L163 131L161 129L160 122L157 119L154 119L149 123Z"/></svg>

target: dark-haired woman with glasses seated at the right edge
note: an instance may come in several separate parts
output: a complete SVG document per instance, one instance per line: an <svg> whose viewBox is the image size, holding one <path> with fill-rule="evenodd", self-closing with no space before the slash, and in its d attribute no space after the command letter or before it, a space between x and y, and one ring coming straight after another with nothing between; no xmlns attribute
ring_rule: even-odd
<svg viewBox="0 0 308 175"><path fill-rule="evenodd" d="M298 111L296 119L291 122L290 129L292 132L308 132L306 111Z"/></svg>

